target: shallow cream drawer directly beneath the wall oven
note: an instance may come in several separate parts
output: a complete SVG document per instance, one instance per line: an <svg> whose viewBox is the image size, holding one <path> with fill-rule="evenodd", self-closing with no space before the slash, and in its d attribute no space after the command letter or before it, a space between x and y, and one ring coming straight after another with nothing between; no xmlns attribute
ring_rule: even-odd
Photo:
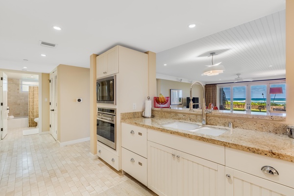
<svg viewBox="0 0 294 196"><path fill-rule="evenodd" d="M111 167L120 171L120 157L111 153L104 147L97 145L97 156L103 159L106 163L108 163Z"/></svg>

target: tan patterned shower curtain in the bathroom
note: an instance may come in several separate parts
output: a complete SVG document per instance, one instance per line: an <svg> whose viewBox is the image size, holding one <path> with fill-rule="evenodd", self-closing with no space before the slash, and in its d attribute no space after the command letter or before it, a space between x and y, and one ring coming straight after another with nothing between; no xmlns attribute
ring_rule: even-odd
<svg viewBox="0 0 294 196"><path fill-rule="evenodd" d="M39 117L39 87L28 87L28 127L37 126L34 122Z"/></svg>

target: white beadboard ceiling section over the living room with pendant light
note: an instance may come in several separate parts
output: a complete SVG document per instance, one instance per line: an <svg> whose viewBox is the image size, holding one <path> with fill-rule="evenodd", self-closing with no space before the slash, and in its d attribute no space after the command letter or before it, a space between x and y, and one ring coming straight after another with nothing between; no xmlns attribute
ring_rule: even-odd
<svg viewBox="0 0 294 196"><path fill-rule="evenodd" d="M282 10L159 52L156 72L206 83L231 82L237 73L254 80L285 78L285 37L285 10ZM205 65L211 65L210 52L218 54L214 56L214 64L222 62L224 73L201 75Z"/></svg>

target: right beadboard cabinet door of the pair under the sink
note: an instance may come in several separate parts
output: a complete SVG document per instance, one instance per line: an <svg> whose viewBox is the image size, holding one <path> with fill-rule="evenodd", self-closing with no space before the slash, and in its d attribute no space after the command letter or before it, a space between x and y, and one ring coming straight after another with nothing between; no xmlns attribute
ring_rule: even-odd
<svg viewBox="0 0 294 196"><path fill-rule="evenodd" d="M225 196L225 168L181 152L178 164L178 196Z"/></svg>

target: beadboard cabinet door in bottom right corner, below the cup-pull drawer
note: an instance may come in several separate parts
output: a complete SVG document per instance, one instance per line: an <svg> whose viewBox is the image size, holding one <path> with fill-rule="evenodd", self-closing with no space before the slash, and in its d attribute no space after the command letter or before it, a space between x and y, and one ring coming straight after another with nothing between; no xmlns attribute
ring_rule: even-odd
<svg viewBox="0 0 294 196"><path fill-rule="evenodd" d="M294 189L231 168L225 168L226 196L293 196ZM228 176L229 175L229 176Z"/></svg>

